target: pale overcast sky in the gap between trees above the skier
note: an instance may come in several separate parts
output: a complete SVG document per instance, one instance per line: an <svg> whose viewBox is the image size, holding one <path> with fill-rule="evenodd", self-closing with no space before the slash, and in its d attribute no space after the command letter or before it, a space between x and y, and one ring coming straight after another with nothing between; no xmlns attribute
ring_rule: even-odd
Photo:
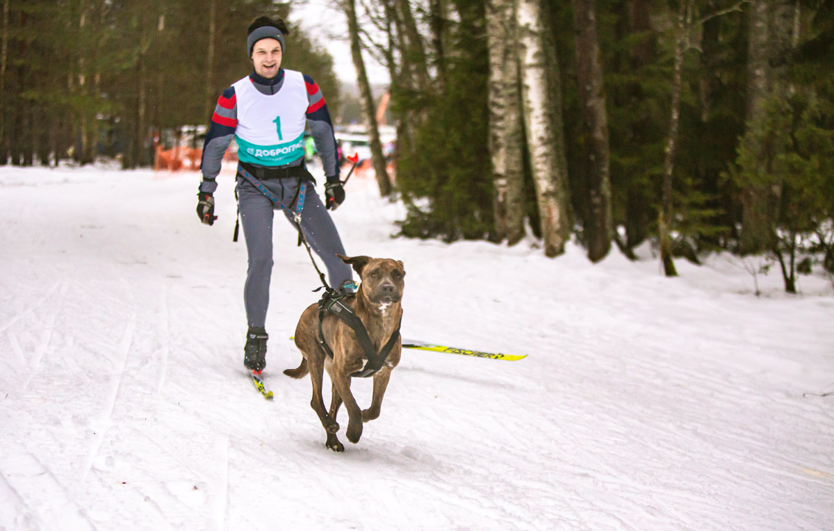
<svg viewBox="0 0 834 531"><path fill-rule="evenodd" d="M299 0L293 3L290 21L323 44L334 59L336 76L344 83L356 83L356 70L350 58L348 23L344 13L334 9L329 0ZM389 83L388 70L363 53L365 69L371 83Z"/></svg>

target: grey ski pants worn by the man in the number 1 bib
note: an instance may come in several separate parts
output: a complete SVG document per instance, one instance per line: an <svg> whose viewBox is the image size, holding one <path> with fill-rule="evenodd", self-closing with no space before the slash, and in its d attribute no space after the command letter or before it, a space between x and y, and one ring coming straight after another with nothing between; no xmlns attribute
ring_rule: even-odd
<svg viewBox="0 0 834 531"><path fill-rule="evenodd" d="M289 211L294 212L295 205L290 204L299 187L298 178L263 179L269 191L281 199ZM238 202L240 223L244 226L246 251L249 254L249 270L244 285L244 305L246 318L250 327L264 327L266 310L269 306L269 280L272 277L272 225L274 206L252 183L238 176ZM327 268L327 277L331 287L339 288L345 280L353 280L353 269L336 256L344 255L344 246L339 232L324 208L313 183L307 181L305 187L304 209L301 211L301 230L310 247L313 248ZM288 210L284 215L295 228L292 214ZM304 253L304 250L300 250ZM314 282L315 270L310 264L310 282Z"/></svg>

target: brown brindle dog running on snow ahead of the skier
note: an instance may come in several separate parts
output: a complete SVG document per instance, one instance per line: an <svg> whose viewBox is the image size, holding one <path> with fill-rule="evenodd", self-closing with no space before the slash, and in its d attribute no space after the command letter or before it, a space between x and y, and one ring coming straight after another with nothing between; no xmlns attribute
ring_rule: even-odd
<svg viewBox="0 0 834 531"><path fill-rule="evenodd" d="M397 329L403 314L400 304L405 276L403 263L390 258L348 258L340 254L338 256L344 263L353 266L361 279L356 295L343 299L343 302L353 308L354 313L362 320L378 353L388 342L391 333ZM332 359L319 345L319 306L311 304L301 314L299 324L295 328L295 345L304 359L298 368L287 369L284 374L292 378L302 378L304 374L309 373L310 379L313 380L313 400L310 406L319 415L319 420L327 431L327 448L334 452L343 452L344 446L336 438L336 432L339 431L339 424L336 423L339 407L344 401L349 416L348 440L358 443L362 436L362 423L379 417L379 408L382 406L391 370L399 363L402 339L397 339L383 367L374 374L374 398L370 408L360 410L354 395L350 393L350 374L364 367L364 350L354 331L332 313L325 315L322 330L325 342L333 351ZM329 411L324 408L324 398L321 394L324 369L327 369L333 383L333 398Z"/></svg>

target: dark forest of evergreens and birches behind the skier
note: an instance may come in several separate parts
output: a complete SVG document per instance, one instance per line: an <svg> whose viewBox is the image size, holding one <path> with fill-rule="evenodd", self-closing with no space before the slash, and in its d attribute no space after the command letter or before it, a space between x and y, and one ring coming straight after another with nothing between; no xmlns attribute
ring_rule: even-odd
<svg viewBox="0 0 834 531"><path fill-rule="evenodd" d="M249 72L267 13L290 22L283 66L364 121L404 236L532 234L548 256L576 238L594 262L650 241L667 276L724 250L778 264L791 293L834 274L834 0L336 0L358 101L292 3L0 2L0 164L150 165Z"/></svg>

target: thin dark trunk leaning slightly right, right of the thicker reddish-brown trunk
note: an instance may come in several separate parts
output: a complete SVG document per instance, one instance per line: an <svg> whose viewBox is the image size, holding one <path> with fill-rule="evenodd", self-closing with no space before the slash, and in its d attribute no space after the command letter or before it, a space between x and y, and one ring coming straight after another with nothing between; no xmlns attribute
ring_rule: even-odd
<svg viewBox="0 0 834 531"><path fill-rule="evenodd" d="M681 119L681 83L683 78L683 55L686 52L688 35L686 28L686 12L690 0L681 0L677 14L675 33L675 63L672 67L672 107L669 123L669 136L666 138L666 149L663 158L663 184L661 212L658 213L658 232L661 237L661 261L663 273L667 277L676 277L675 262L672 260L672 243L669 231L672 221L672 174L675 171L675 153L677 148L677 132Z"/></svg>

